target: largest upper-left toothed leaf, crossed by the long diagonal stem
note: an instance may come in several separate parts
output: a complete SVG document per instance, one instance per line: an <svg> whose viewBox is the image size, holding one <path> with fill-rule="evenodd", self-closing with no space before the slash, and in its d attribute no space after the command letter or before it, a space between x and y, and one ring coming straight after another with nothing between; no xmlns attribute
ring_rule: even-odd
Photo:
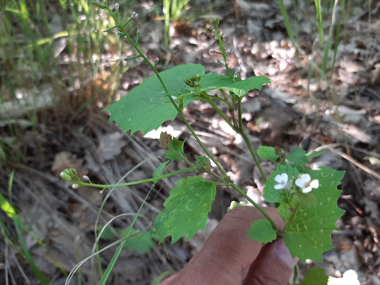
<svg viewBox="0 0 380 285"><path fill-rule="evenodd" d="M194 98L190 95L190 88L184 86L184 79L194 74L204 74L204 67L189 63L160 72L170 96L188 94L184 98L184 107ZM131 130L131 135L139 130L146 135L153 129L157 130L166 120L174 120L178 114L157 76L145 79L104 110L111 113L110 122L115 121L123 132Z"/></svg>

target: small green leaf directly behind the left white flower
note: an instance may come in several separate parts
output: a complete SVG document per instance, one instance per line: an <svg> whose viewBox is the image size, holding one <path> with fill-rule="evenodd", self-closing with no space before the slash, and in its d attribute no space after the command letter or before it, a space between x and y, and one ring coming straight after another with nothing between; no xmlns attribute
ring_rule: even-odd
<svg viewBox="0 0 380 285"><path fill-rule="evenodd" d="M274 185L277 184L277 182L274 181L274 177L282 173L287 173L289 180L291 179L292 176L294 177L299 176L299 172L297 168L294 168L289 164L277 165L276 170L272 172L271 177L269 177L269 179L266 181L266 184L264 187L264 194L263 194L265 201L270 202L270 203L278 203L278 202L290 203L293 195L291 195L289 191L285 191L284 189L274 188Z"/></svg>

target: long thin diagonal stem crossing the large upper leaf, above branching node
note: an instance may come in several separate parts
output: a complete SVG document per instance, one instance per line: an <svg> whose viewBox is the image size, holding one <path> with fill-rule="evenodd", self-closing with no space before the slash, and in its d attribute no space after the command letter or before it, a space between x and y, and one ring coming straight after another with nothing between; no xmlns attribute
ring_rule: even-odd
<svg viewBox="0 0 380 285"><path fill-rule="evenodd" d="M198 136L195 134L195 131L193 130L193 128L190 126L190 124L187 122L184 114L182 113L182 110L177 106L176 102L174 101L174 99L170 96L170 93L169 93L169 90L166 88L166 85L165 83L163 82L160 74L158 73L157 69L154 67L154 65L149 61L149 59L147 59L147 57L142 53L141 49L139 49L139 47L131 40L130 36L127 34L127 32L125 31L125 29L120 25L120 22L119 20L117 19L117 17L112 13L111 9L107 6L107 9L108 9L108 12L109 14L111 14L112 18L114 18L115 22L119 25L120 29L122 30L123 33L125 33L125 37L127 37L127 40L130 42L130 44L136 49L136 51L138 52L139 55L141 55L142 59L144 59L144 61L150 66L150 68L152 68L152 70L154 71L154 73L156 74L157 76L157 79L160 81L163 89L165 90L165 93L166 93L166 96L169 98L169 100L171 101L171 103L173 104L174 108L176 108L178 114L180 115L180 117L182 118L182 120L184 121L184 123L186 124L187 128L190 130L190 132L192 133L192 135L194 136L194 138L196 139L196 141L198 142L198 144L202 147L202 149L204 150L204 152L206 152L207 156L212 160L214 161L215 165L217 166L217 168L220 170L220 172L223 174L223 176L227 176L226 172L224 171L224 169L222 168L222 166L220 166L220 164L215 160L215 158L212 156L212 154L206 149L206 147L203 145L203 143L201 142L201 140L198 138Z"/></svg>

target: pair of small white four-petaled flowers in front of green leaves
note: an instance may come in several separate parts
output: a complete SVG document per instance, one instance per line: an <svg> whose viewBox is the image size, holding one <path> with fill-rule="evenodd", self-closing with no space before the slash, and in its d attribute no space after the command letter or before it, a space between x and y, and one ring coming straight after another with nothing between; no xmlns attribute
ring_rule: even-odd
<svg viewBox="0 0 380 285"><path fill-rule="evenodd" d="M274 185L276 190L286 189L289 190L293 185L293 179L288 179L288 174L282 173L274 177L274 181L277 182ZM311 180L309 174L301 174L295 181L294 184L302 190L302 193L309 193L313 188L319 187L319 182L317 179Z"/></svg>

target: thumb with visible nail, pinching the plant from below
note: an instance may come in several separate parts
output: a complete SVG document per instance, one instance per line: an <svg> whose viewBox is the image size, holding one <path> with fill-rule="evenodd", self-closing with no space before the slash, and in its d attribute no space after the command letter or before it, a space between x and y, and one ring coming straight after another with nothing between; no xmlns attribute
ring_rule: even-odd
<svg viewBox="0 0 380 285"><path fill-rule="evenodd" d="M245 277L244 285L287 285L298 258L292 258L283 239L264 245Z"/></svg>

